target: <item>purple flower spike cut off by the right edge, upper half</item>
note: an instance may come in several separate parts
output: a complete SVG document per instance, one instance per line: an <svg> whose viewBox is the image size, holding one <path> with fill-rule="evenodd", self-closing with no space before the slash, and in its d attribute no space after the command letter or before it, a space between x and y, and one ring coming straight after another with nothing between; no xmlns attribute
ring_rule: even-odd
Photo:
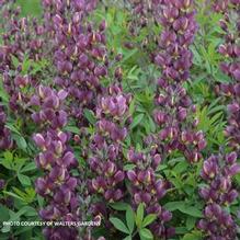
<svg viewBox="0 0 240 240"><path fill-rule="evenodd" d="M230 4L231 3L231 4ZM225 31L225 43L219 46L219 53L225 57L220 64L224 73L228 75L232 82L221 84L222 92L229 98L228 105L228 126L226 136L230 138L230 147L236 150L240 148L240 2L232 0L226 9L225 18L220 21L222 31ZM230 18L233 16L232 18ZM235 32L232 28L235 28Z"/></svg>

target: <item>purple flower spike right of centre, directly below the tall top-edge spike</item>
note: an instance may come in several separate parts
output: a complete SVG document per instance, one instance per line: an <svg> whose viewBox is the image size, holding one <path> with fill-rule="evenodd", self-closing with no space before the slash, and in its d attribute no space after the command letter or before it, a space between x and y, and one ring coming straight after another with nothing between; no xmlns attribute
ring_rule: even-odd
<svg viewBox="0 0 240 240"><path fill-rule="evenodd" d="M202 130L196 130L197 119L192 119L196 108L185 89L180 84L173 87L163 79L159 80L153 112L155 122L161 127L155 136L159 151L169 155L174 150L184 153L190 162L197 162L202 158L201 151L206 147Z"/></svg>

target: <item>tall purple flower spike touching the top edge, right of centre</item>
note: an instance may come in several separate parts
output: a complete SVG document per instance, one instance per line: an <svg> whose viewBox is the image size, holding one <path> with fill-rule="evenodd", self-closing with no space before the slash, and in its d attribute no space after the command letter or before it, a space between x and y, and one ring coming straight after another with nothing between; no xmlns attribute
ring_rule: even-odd
<svg viewBox="0 0 240 240"><path fill-rule="evenodd" d="M156 64L162 69L162 78L183 82L190 76L193 54L188 46L197 30L195 12L191 0L171 0L162 3L160 23L163 26L159 39L162 49L156 56Z"/></svg>

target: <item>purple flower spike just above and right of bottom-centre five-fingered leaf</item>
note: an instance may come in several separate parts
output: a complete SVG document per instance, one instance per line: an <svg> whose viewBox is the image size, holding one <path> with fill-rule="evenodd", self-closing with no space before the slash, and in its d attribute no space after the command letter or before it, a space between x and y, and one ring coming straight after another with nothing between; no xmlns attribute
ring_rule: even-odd
<svg viewBox="0 0 240 240"><path fill-rule="evenodd" d="M134 163L135 168L127 171L127 178L130 181L134 207L145 203L147 214L157 215L157 220L150 226L152 232L155 236L168 239L174 235L174 229L165 227L165 222L171 220L172 214L159 203L169 188L169 183L156 174L161 160L159 153L152 152L147 156L135 152L133 149L129 150L128 161Z"/></svg>

